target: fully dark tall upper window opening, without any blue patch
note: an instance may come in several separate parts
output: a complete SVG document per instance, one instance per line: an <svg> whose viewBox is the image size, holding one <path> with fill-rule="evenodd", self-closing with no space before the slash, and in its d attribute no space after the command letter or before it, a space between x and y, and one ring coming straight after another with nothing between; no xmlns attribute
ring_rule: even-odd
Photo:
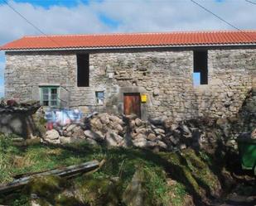
<svg viewBox="0 0 256 206"><path fill-rule="evenodd" d="M89 87L89 54L77 54L77 86Z"/></svg>

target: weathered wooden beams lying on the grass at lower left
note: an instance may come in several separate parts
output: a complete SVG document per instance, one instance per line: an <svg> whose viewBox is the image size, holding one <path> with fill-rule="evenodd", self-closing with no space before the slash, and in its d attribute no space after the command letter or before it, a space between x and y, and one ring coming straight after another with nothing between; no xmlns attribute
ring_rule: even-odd
<svg viewBox="0 0 256 206"><path fill-rule="evenodd" d="M89 162L82 163L80 165L70 165L61 169L54 169L43 171L41 173L36 173L33 175L28 175L17 180L13 180L11 183L0 185L0 194L10 192L15 189L19 189L22 186L26 185L31 178L41 175L57 175L59 177L72 177L74 175L89 172L99 168L101 164L98 160L93 160Z"/></svg>

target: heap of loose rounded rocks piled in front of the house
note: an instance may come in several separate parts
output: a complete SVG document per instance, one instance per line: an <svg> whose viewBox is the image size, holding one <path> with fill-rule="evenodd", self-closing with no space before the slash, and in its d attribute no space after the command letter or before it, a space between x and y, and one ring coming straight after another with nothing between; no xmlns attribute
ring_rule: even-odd
<svg viewBox="0 0 256 206"><path fill-rule="evenodd" d="M185 149L191 145L193 132L185 124L170 119L142 121L135 115L118 117L108 113L95 113L85 117L83 123L55 127L47 131L44 141L59 144L80 140L93 145L138 146L157 151Z"/></svg>

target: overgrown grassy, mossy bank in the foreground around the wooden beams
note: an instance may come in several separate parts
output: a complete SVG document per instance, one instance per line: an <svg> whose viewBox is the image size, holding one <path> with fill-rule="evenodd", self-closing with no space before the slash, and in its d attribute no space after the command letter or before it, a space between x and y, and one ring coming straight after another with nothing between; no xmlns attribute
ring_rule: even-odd
<svg viewBox="0 0 256 206"><path fill-rule="evenodd" d="M97 172L72 180L52 176L37 178L15 194L0 196L0 204L29 205L31 194L36 194L36 201L41 205L128 206L131 205L128 204L130 198L139 194L144 205L181 206L186 204L188 197L201 202L220 191L219 180L206 163L210 162L210 158L205 153L196 153L191 149L154 153L132 148L107 149L83 143L15 146L12 138L0 136L2 184L22 173L50 170L89 160L105 159L106 163ZM137 179L134 177L136 172L139 174ZM137 189L131 186L132 181L137 181Z"/></svg>

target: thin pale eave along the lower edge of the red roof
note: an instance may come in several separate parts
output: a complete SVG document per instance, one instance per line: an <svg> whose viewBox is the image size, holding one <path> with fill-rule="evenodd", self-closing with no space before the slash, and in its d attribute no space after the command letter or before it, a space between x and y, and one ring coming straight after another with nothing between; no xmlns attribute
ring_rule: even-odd
<svg viewBox="0 0 256 206"><path fill-rule="evenodd" d="M119 49L157 49L157 48L191 48L191 47L217 47L217 46L256 46L256 43L241 43L241 44L193 44L193 45L165 45L165 46L94 46L94 47L63 47L63 48L19 48L5 49L3 51L54 51L54 50L119 50Z"/></svg>

